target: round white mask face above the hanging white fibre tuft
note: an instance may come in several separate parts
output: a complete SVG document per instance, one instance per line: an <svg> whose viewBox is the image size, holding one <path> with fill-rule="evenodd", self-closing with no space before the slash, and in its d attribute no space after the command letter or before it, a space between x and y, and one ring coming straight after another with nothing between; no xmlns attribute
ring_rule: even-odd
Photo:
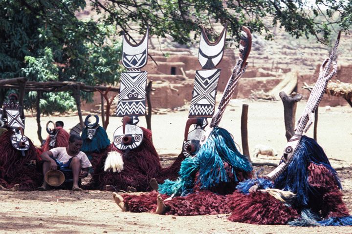
<svg viewBox="0 0 352 234"><path fill-rule="evenodd" d="M137 148L143 140L143 130L132 124L125 125L125 134L123 126L118 127L113 135L113 143L119 150L132 150Z"/></svg>

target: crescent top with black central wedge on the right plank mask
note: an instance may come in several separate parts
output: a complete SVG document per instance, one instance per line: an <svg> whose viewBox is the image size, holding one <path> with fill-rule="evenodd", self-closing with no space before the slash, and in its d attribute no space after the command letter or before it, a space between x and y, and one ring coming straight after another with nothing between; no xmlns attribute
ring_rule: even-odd
<svg viewBox="0 0 352 234"><path fill-rule="evenodd" d="M198 50L198 61L202 69L214 68L220 63L225 48L226 31L225 26L218 40L211 42L202 29Z"/></svg>

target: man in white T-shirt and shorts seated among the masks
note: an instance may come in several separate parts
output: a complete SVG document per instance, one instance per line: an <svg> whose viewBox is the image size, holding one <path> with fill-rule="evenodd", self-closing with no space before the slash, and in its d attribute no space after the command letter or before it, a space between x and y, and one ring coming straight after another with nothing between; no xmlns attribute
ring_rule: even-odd
<svg viewBox="0 0 352 234"><path fill-rule="evenodd" d="M73 174L73 191L81 191L82 189L78 186L78 180L88 176L88 168L91 164L85 153L80 151L82 147L82 137L77 135L71 135L69 137L67 147L58 147L44 152L41 155L43 160L43 174L45 175L49 170L57 170L58 165L60 168L71 169ZM43 185L38 190L47 190L47 183L43 182Z"/></svg>

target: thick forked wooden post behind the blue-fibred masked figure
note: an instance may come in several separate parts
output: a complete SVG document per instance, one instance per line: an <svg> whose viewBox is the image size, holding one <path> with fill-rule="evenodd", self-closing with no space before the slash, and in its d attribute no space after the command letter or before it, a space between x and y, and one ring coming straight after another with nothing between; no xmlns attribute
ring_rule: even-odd
<svg viewBox="0 0 352 234"><path fill-rule="evenodd" d="M288 141L294 134L297 102L299 102L303 96L301 94L287 96L284 91L280 92L279 96L284 104L285 136Z"/></svg>

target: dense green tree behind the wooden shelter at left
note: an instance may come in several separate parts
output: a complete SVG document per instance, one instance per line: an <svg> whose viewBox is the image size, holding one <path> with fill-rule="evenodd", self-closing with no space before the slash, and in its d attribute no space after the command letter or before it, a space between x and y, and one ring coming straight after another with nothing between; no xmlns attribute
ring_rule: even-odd
<svg viewBox="0 0 352 234"><path fill-rule="evenodd" d="M0 78L114 84L121 71L115 29L75 14L85 0L0 0ZM91 94L82 93L83 99ZM29 94L25 108L34 108ZM69 92L44 94L44 113L75 108ZM62 106L64 105L64 106Z"/></svg>

